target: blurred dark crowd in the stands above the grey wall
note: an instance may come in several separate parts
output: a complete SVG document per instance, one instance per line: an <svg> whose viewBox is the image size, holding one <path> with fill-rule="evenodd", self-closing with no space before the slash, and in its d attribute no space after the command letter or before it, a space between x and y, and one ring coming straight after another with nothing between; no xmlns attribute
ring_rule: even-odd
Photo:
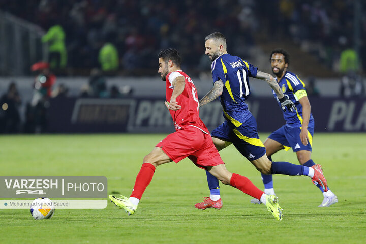
<svg viewBox="0 0 366 244"><path fill-rule="evenodd" d="M366 4L360 7L366 12ZM95 67L110 74L155 74L157 53L168 47L181 52L191 72L207 70L203 40L218 30L226 35L229 52L244 59L256 55L260 42L281 41L333 71L349 68L349 62L340 65L345 50L351 69L366 65L366 16L360 16L359 50L354 50L353 0L28 0L21 7L2 0L0 9L48 31L43 41L50 43L51 67L71 67L76 74Z"/></svg>

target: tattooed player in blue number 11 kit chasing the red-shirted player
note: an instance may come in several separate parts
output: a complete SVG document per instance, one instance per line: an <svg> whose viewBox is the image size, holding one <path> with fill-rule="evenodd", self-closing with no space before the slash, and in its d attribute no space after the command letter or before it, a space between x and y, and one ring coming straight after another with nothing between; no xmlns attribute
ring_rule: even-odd
<svg viewBox="0 0 366 244"><path fill-rule="evenodd" d="M226 39L219 32L205 38L206 55L212 60L214 87L199 101L203 106L220 96L225 122L211 132L212 140L220 151L230 144L246 157L263 174L306 175L327 191L326 180L320 165L312 167L288 162L271 162L257 133L257 122L245 103L250 95L249 76L265 80L279 98L281 108L294 112L295 105L284 96L279 84L270 74L259 71L250 63L226 51ZM220 209L219 182L207 170L210 196L195 205L198 209Z"/></svg>

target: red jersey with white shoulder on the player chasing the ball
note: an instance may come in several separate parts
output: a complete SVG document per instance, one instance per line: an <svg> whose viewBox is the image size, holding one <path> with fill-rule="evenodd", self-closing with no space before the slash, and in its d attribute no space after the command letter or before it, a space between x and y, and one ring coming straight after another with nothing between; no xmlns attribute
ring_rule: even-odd
<svg viewBox="0 0 366 244"><path fill-rule="evenodd" d="M183 92L176 99L181 109L176 111L169 109L174 121L175 130L182 129L186 126L193 126L209 134L207 127L199 117L199 102L196 87L191 78L182 70L173 71L166 76L167 101L170 101L174 89L171 83L178 76L185 77L186 85Z"/></svg>

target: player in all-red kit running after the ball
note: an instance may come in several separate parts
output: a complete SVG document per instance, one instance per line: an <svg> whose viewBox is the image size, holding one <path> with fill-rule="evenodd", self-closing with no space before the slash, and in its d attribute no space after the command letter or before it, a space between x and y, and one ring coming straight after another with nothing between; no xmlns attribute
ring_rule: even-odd
<svg viewBox="0 0 366 244"><path fill-rule="evenodd" d="M246 177L230 173L212 142L211 135L199 118L199 102L196 87L191 78L180 69L181 57L177 50L169 48L159 53L159 74L166 81L165 102L173 118L175 132L160 141L143 159L130 198L109 196L111 202L134 214L138 203L157 166L188 157L198 167L208 170L223 184L231 185L242 192L264 201L268 211L277 220L282 219L278 198L259 190ZM215 207L215 206L214 206ZM221 206L218 206L221 208Z"/></svg>

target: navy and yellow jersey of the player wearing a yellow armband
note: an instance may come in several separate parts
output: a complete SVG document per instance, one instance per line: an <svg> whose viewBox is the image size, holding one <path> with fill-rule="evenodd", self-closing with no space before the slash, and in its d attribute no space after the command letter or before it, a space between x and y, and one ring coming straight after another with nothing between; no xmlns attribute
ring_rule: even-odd
<svg viewBox="0 0 366 244"><path fill-rule="evenodd" d="M286 123L291 127L301 127L302 105L300 104L299 99L302 96L306 96L306 92L304 92L305 84L302 82L302 80L298 78L297 75L289 71L286 71L285 75L281 78L280 82L278 83L284 95L292 102L294 102L296 106L295 112L290 112L287 109L286 112L284 112L284 119L286 120ZM275 96L278 104L280 105L280 101L275 91L273 91L273 96ZM312 114L310 114L309 127L314 127L314 118Z"/></svg>

